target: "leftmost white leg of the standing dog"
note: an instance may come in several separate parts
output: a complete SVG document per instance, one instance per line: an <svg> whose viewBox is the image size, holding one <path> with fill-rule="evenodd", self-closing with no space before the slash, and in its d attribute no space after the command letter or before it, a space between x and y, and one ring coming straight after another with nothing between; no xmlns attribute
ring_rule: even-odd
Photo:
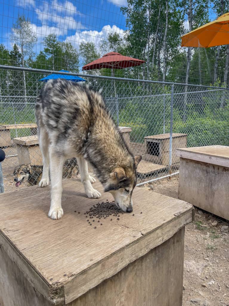
<svg viewBox="0 0 229 306"><path fill-rule="evenodd" d="M43 159L43 172L39 187L46 187L49 185L49 137L43 128L39 131L39 147Z"/></svg>

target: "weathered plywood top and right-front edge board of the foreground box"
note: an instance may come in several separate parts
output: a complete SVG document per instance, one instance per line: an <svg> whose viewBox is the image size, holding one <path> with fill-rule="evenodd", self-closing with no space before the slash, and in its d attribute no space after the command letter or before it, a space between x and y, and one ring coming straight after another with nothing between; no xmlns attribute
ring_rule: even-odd
<svg viewBox="0 0 229 306"><path fill-rule="evenodd" d="M99 183L94 188L102 192L100 201L112 200ZM84 212L97 202L88 199L82 184L74 179L63 181L64 217L60 220L47 216L49 187L34 186L0 195L0 235L11 241L52 291L66 288L67 302L169 239L193 218L190 204L135 188L135 216L125 213L119 221L104 219L103 226L94 229Z"/></svg>

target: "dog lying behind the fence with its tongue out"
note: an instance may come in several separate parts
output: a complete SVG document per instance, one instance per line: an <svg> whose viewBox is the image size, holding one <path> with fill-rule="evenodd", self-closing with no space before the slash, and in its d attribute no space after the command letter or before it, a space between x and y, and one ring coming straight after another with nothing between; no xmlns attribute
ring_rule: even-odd
<svg viewBox="0 0 229 306"><path fill-rule="evenodd" d="M30 185L37 185L42 178L43 166L20 165L16 166L13 172L15 186L18 187L26 178ZM68 159L64 163L63 178L71 178L78 174L76 158Z"/></svg>

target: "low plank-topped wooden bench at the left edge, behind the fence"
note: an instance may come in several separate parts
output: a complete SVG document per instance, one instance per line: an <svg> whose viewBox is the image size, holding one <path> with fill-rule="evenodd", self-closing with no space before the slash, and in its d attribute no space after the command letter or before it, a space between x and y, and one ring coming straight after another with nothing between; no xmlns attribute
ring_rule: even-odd
<svg viewBox="0 0 229 306"><path fill-rule="evenodd" d="M0 125L0 147L9 147L12 145L10 137L10 130L12 129L30 129L31 135L37 134L37 125L34 123Z"/></svg>

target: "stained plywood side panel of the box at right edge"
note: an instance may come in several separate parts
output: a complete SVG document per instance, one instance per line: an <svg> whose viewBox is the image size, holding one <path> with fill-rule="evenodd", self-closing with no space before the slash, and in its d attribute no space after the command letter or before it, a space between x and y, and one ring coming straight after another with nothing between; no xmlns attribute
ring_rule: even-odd
<svg viewBox="0 0 229 306"><path fill-rule="evenodd" d="M229 220L229 168L180 158L178 196Z"/></svg>

